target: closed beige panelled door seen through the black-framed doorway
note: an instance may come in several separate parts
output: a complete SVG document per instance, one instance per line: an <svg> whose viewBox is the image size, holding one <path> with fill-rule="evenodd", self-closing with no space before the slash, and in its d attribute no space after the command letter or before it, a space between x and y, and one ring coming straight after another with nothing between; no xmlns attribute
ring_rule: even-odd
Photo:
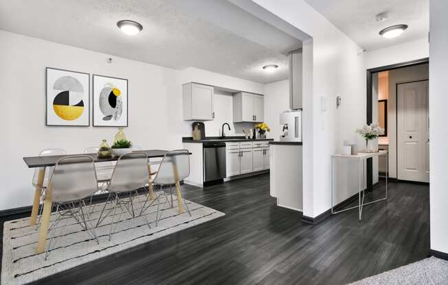
<svg viewBox="0 0 448 285"><path fill-rule="evenodd" d="M428 81L397 86L397 178L429 182Z"/></svg>

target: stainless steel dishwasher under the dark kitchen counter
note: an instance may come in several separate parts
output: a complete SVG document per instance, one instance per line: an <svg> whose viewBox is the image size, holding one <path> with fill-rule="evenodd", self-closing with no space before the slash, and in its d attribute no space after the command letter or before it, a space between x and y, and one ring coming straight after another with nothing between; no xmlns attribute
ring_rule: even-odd
<svg viewBox="0 0 448 285"><path fill-rule="evenodd" d="M204 183L225 178L225 143L203 143Z"/></svg>

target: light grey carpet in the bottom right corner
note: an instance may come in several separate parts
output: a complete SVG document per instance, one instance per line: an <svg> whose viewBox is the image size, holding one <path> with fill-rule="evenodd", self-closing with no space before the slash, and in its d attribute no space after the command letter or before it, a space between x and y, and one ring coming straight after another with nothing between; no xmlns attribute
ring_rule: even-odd
<svg viewBox="0 0 448 285"><path fill-rule="evenodd" d="M351 285L448 284L448 261L426 258L391 271L385 271Z"/></svg>

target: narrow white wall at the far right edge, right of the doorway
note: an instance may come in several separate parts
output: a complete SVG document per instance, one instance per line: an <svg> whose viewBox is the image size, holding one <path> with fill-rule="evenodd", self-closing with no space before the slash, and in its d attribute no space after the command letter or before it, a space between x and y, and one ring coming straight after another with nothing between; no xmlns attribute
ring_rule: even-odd
<svg viewBox="0 0 448 285"><path fill-rule="evenodd" d="M429 212L431 249L448 253L448 132L447 132L447 66L448 66L448 2L429 2Z"/></svg>

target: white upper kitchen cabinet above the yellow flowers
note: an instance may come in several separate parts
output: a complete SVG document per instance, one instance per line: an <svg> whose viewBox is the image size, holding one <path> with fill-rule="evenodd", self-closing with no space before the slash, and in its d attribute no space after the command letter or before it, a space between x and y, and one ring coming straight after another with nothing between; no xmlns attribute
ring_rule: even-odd
<svg viewBox="0 0 448 285"><path fill-rule="evenodd" d="M265 119L262 95L238 92L234 95L234 122L262 122Z"/></svg>

